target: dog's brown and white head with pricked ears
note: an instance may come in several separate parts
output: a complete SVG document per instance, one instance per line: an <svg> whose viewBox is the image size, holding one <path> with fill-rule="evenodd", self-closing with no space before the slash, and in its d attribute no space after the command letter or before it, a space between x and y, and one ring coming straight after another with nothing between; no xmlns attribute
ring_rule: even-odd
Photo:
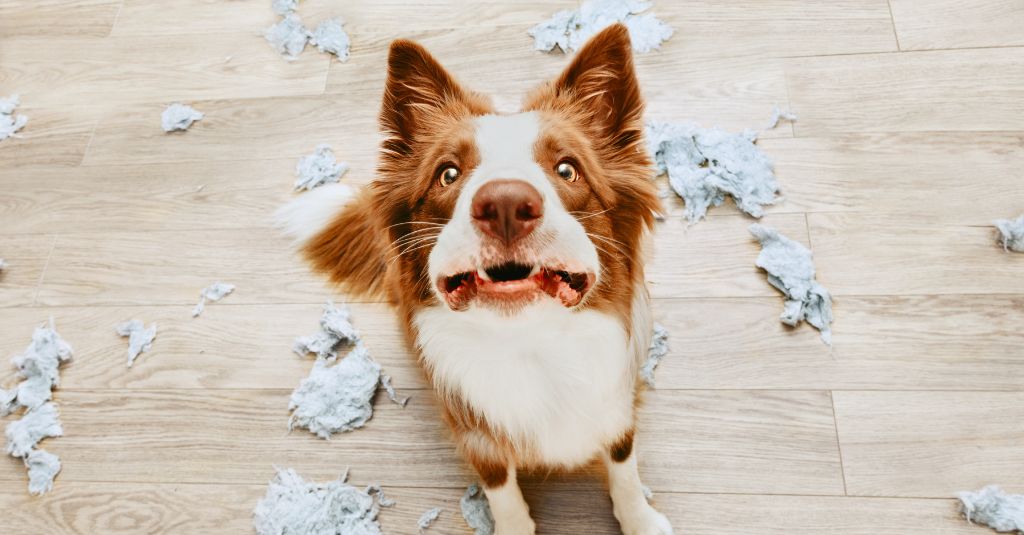
<svg viewBox="0 0 1024 535"><path fill-rule="evenodd" d="M380 219L392 289L455 311L509 313L542 299L580 307L632 295L639 243L659 209L642 111L622 25L512 115L496 114L422 46L394 42L374 208L361 214ZM329 271L339 261L317 258L338 246L307 252Z"/></svg>

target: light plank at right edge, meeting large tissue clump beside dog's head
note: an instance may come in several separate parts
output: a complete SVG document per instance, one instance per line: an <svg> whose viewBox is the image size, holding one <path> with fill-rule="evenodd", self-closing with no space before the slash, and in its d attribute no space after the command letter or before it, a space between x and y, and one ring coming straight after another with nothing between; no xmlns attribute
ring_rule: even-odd
<svg viewBox="0 0 1024 535"><path fill-rule="evenodd" d="M771 213L944 214L988 224L1024 209L1020 133L853 134L758 145L775 161L784 198Z"/></svg>

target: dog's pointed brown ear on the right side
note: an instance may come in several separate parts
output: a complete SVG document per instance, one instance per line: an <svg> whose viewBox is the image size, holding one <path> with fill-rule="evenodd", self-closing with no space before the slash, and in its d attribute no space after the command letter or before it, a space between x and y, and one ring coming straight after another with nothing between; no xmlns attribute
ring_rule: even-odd
<svg viewBox="0 0 1024 535"><path fill-rule="evenodd" d="M553 89L556 99L567 98L585 111L589 126L599 128L612 149L626 149L641 139L643 98L625 25L609 26L592 37Z"/></svg>

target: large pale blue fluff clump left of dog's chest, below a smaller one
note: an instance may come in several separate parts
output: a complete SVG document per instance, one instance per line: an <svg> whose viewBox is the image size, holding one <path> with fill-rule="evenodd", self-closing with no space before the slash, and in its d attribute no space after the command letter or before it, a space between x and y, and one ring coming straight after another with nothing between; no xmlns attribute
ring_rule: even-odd
<svg viewBox="0 0 1024 535"><path fill-rule="evenodd" d="M361 427L374 413L381 365L356 343L343 359L316 359L309 376L292 393L288 428L305 427L322 439Z"/></svg>

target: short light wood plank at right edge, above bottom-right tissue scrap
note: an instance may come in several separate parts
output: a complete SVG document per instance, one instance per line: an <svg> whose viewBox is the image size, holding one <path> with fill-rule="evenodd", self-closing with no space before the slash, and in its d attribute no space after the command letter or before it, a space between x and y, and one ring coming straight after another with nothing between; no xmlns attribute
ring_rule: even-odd
<svg viewBox="0 0 1024 535"><path fill-rule="evenodd" d="M835 393L850 494L1024 491L1024 393Z"/></svg>

